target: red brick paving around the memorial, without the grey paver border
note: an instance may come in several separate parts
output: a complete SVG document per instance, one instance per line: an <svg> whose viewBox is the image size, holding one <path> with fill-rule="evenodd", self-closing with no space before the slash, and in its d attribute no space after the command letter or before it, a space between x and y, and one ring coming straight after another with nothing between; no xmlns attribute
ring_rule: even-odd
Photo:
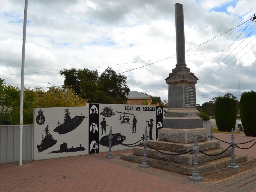
<svg viewBox="0 0 256 192"><path fill-rule="evenodd" d="M230 141L229 134L215 133L217 138ZM235 135L236 143L256 139L244 135ZM241 145L246 148L254 142ZM228 147L228 144L221 143ZM256 145L248 150L235 148L236 153L246 154L248 157L256 157ZM126 153L122 151L122 153ZM205 191L190 185L161 176L137 171L101 158L107 153L99 153L94 156L72 156L38 161L23 162L25 166L18 167L18 163L0 164L0 191L21 192L50 192L50 191L92 191L92 192L133 192L133 191L177 191L177 192L202 192ZM118 155L118 152L113 152ZM172 173L170 174L172 175ZM209 188L208 188L209 190ZM252 191L256 191L253 189Z"/></svg>

